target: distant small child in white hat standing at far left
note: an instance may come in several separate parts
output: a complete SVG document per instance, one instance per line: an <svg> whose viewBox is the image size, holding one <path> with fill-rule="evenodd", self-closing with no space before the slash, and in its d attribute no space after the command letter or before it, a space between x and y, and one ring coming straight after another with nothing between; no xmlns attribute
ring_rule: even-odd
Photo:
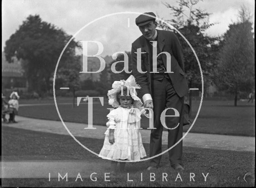
<svg viewBox="0 0 256 188"><path fill-rule="evenodd" d="M10 100L8 101L9 104L9 110L10 110L10 118L9 118L9 123L17 123L15 121L15 115L18 114L18 109L19 109L19 100L20 96L18 95L17 92L12 92L10 94Z"/></svg>

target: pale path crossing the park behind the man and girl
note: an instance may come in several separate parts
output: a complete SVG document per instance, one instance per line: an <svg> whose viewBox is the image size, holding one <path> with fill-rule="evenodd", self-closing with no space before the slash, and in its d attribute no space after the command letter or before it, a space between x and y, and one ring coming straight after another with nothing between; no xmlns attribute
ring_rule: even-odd
<svg viewBox="0 0 256 188"><path fill-rule="evenodd" d="M87 124L65 122L68 130L64 128L64 125L60 121L52 120L39 120L33 118L26 118L22 116L16 116L18 123L5 124L2 126L10 126L16 128L23 128L27 130L34 130L40 132L49 132L54 134L69 135L68 130L75 137L85 138L98 138L104 139L104 132L106 126L93 127L96 129L84 129L88 127ZM140 130L143 143L149 143L150 130ZM167 131L163 132L162 144L167 144ZM185 132L183 134L186 134ZM248 136L229 136L218 134L200 134L200 133L188 133L183 139L183 146L198 147L198 148L212 148L219 150L236 150L236 151L253 151L255 152L255 137Z"/></svg>

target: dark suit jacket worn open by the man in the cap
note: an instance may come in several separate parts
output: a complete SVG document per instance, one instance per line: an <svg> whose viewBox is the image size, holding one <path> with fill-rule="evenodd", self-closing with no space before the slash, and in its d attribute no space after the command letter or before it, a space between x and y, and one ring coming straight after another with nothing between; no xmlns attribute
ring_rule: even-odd
<svg viewBox="0 0 256 188"><path fill-rule="evenodd" d="M171 71L174 73L168 74L171 78L174 90L178 96L183 97L189 90L184 77L184 61L180 42L173 32L165 30L157 30L157 38L160 52L168 52L171 54ZM150 66L150 63L152 63L152 55L150 57L150 50L148 49L146 40L147 39L142 35L132 43L132 72L136 78L137 84L141 86L141 90L139 91L140 97L147 93L152 96L152 76L150 76L152 73L149 73L152 71L150 70L150 67L152 67L152 65ZM141 48L141 52L146 52L141 54L141 68L142 71L147 71L146 73L140 73L137 70L137 54L134 52L136 52L138 48ZM161 56L164 66L167 67L166 55L161 54Z"/></svg>

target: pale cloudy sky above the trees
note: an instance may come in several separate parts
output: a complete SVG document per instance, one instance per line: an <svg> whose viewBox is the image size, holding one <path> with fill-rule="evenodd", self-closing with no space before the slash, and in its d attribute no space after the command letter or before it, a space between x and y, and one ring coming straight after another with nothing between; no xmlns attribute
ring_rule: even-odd
<svg viewBox="0 0 256 188"><path fill-rule="evenodd" d="M132 42L141 35L135 24L140 13L154 12L163 20L173 18L164 2L178 5L176 0L2 0L2 51L5 41L30 14L39 14L77 41L102 43L100 56L130 51ZM206 34L220 36L236 21L242 5L250 10L254 22L254 0L204 0L195 8L206 10L211 14L209 21L216 23ZM89 42L88 55L97 52L98 44Z"/></svg>

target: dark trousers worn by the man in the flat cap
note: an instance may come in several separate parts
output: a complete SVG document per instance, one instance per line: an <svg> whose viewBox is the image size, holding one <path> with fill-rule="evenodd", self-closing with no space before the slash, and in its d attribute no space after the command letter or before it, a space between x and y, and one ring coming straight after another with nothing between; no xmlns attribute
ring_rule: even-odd
<svg viewBox="0 0 256 188"><path fill-rule="evenodd" d="M154 128L151 130L150 134L150 157L156 156L162 152L162 132L163 126L160 121L161 113L166 108L175 108L179 112L179 117L166 117L166 126L168 128L175 128L178 123L179 126L175 129L168 129L168 148L172 147L176 142L182 138L183 129L183 118L182 110L184 97L180 98L169 78L164 77L162 80L152 80L153 85L153 104L154 104ZM174 110L169 109L166 111L166 115L174 116ZM159 166L161 156L153 158L150 160L150 166ZM169 150L170 164L182 164L182 140L174 148Z"/></svg>

